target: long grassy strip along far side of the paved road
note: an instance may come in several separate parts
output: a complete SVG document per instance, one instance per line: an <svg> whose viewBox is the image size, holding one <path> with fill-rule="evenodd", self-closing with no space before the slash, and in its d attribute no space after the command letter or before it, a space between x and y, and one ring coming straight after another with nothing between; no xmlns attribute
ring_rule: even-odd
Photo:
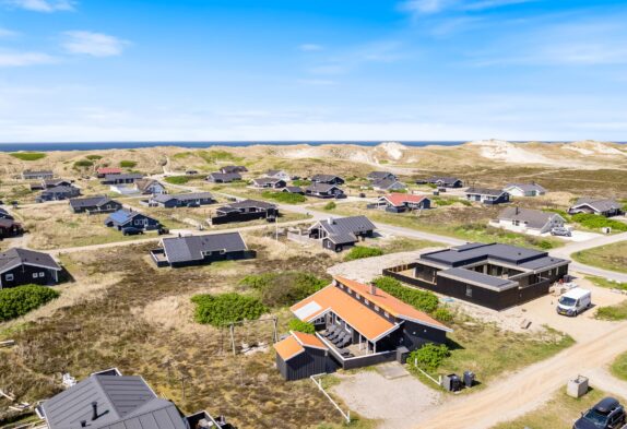
<svg viewBox="0 0 627 429"><path fill-rule="evenodd" d="M312 206L321 210L321 206ZM564 241L553 237L533 237L487 226L501 207L469 206L461 202L423 211L418 214L387 213L367 210L366 203L336 203L330 213L344 216L366 215L372 222L395 225L425 233L456 237L468 241L504 242L536 249L551 249L564 246Z"/></svg>

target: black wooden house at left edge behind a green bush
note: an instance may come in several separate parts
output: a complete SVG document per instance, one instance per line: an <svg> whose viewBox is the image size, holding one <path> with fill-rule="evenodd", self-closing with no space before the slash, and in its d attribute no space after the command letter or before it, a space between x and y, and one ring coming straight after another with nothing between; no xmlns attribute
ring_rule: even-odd
<svg viewBox="0 0 627 429"><path fill-rule="evenodd" d="M12 248L0 253L0 289L22 285L55 285L61 267L48 253Z"/></svg>

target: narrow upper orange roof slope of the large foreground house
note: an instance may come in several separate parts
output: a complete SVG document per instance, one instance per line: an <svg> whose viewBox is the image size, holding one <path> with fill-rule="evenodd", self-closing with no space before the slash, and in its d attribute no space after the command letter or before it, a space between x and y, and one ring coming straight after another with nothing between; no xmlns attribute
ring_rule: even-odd
<svg viewBox="0 0 627 429"><path fill-rule="evenodd" d="M450 327L446 326L441 322L438 322L427 313L416 310L409 303L401 301L398 298L394 298L390 294L385 290L377 288L375 295L370 294L370 287L368 285L364 285L363 283L355 282L348 278L335 276L335 279L341 284L350 287L354 291L358 293L363 297L366 297L369 301L375 302L377 306L389 312L390 314L401 318L401 319L409 319L416 321L418 323L424 323L426 325L442 330L442 331L452 331Z"/></svg>

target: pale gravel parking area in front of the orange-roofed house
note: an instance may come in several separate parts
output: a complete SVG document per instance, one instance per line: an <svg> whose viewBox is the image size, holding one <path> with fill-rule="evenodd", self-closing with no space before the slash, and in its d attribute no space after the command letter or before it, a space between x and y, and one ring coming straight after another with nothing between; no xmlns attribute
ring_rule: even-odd
<svg viewBox="0 0 627 429"><path fill-rule="evenodd" d="M411 428L413 416L441 402L441 393L411 376L388 380L377 371L360 371L338 377L342 382L332 392L359 415L385 420L381 428Z"/></svg>

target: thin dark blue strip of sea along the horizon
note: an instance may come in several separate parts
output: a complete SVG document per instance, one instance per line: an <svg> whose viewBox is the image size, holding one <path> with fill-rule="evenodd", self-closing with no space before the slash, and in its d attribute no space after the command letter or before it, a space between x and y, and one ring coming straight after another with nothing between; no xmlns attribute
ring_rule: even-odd
<svg viewBox="0 0 627 429"><path fill-rule="evenodd" d="M323 144L356 144L359 146L376 146L381 144L381 141L281 141L281 142L258 142L258 141L241 141L241 142L85 142L85 143L0 143L0 152L17 152L17 151L98 151L110 148L144 148L144 147L158 147L158 146L177 146L187 148L209 148L212 146L232 146L232 147L246 147L252 145L268 145L268 146L288 146L294 144L308 144L311 146L321 146ZM458 146L465 143L465 141L399 141L406 146L422 147L429 145L438 146ZM512 142L524 143L524 142ZM544 142L557 143L557 142Z"/></svg>

